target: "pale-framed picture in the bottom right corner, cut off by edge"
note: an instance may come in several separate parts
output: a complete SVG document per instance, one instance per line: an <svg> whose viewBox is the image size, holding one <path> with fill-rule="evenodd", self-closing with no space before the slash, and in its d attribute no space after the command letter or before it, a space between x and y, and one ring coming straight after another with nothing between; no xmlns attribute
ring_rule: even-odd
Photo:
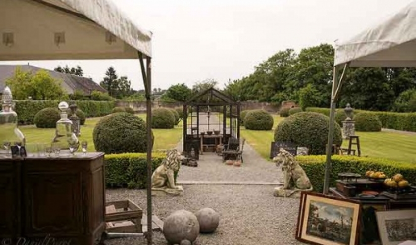
<svg viewBox="0 0 416 245"><path fill-rule="evenodd" d="M416 209L378 211L375 215L383 245L416 240Z"/></svg>

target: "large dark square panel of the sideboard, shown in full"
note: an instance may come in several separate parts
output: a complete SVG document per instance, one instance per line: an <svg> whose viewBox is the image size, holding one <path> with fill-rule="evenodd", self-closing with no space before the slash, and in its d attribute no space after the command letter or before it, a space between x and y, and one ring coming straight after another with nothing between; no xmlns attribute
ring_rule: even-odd
<svg viewBox="0 0 416 245"><path fill-rule="evenodd" d="M84 232L81 172L30 171L24 175L24 194L25 235Z"/></svg>

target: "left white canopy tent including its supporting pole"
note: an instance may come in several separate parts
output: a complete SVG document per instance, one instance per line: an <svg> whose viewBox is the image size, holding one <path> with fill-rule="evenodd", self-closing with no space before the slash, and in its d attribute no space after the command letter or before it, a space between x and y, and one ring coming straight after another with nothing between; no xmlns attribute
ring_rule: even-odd
<svg viewBox="0 0 416 245"><path fill-rule="evenodd" d="M136 26L108 0L0 0L0 35L0 61L140 60L147 98L146 235L152 244L152 33Z"/></svg>

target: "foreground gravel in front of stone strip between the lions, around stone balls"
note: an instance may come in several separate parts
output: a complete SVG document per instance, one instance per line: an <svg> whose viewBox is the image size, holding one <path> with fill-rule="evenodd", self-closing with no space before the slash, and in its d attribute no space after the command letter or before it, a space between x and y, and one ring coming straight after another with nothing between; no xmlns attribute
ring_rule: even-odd
<svg viewBox="0 0 416 245"><path fill-rule="evenodd" d="M153 212L164 220L175 210L211 207L220 214L215 233L200 235L194 245L302 245L295 239L299 199L272 195L273 186L186 185L184 196L153 198ZM107 190L107 200L129 198L146 207L145 190ZM146 210L144 210L146 211ZM144 238L105 241L106 245L146 245ZM155 245L166 245L160 232Z"/></svg>

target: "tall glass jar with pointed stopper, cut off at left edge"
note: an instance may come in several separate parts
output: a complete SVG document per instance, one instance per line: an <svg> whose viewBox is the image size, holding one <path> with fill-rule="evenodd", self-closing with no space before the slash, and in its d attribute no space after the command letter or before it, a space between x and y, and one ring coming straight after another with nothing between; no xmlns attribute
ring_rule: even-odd
<svg viewBox="0 0 416 245"><path fill-rule="evenodd" d="M0 141L6 150L11 145L26 145L23 133L17 128L17 114L13 110L13 96L9 87L5 87L1 96L2 110L0 111Z"/></svg>

